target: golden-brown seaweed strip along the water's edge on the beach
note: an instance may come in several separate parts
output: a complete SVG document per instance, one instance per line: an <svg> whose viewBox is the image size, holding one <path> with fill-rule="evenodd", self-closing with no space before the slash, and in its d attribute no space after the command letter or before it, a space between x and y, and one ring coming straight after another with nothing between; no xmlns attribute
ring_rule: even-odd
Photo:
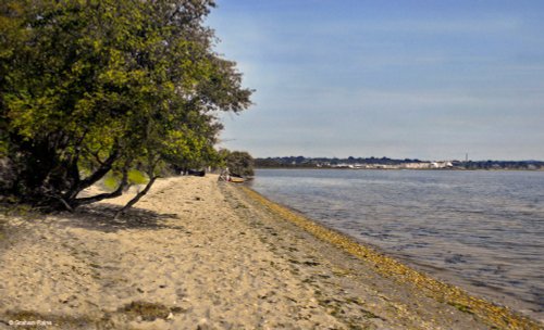
<svg viewBox="0 0 544 330"><path fill-rule="evenodd" d="M265 206L281 218L297 225L316 238L329 242L361 261L373 264L374 269L380 274L400 282L411 283L436 301L447 303L459 310L473 314L492 327L499 329L544 329L542 323L522 316L508 307L497 306L483 299L472 296L455 285L435 280L428 275L405 266L390 256L378 253L369 246L357 243L345 234L318 225L309 218L268 200L252 189L247 187L240 187L240 189L251 200Z"/></svg>

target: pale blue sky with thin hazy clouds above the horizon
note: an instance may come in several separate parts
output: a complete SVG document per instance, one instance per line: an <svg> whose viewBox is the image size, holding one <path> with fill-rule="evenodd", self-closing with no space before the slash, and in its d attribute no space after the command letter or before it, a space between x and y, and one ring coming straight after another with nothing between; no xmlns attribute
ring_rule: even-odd
<svg viewBox="0 0 544 330"><path fill-rule="evenodd" d="M254 156L544 160L544 1L219 0Z"/></svg>

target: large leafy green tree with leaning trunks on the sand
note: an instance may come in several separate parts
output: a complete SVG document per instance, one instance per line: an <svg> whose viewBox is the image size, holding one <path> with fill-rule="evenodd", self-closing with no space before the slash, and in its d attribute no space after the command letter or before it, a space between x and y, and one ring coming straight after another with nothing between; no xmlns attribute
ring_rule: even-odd
<svg viewBox="0 0 544 330"><path fill-rule="evenodd" d="M145 193L166 162L212 158L217 114L247 109L251 94L213 51L203 26L213 7L2 1L0 156L14 177L2 193L73 210L120 195L131 168L149 176ZM114 191L78 198L108 173Z"/></svg>

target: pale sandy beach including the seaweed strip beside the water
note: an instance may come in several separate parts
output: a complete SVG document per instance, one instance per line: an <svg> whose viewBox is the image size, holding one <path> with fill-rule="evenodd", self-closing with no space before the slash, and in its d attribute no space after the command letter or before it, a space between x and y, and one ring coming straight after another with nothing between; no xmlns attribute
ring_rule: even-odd
<svg viewBox="0 0 544 330"><path fill-rule="evenodd" d="M214 175L129 198L0 215L0 329L543 329Z"/></svg>

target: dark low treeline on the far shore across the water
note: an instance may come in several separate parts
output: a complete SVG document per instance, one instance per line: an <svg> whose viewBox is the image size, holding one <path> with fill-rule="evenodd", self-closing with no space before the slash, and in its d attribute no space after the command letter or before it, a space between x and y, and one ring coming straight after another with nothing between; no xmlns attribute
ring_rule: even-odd
<svg viewBox="0 0 544 330"><path fill-rule="evenodd" d="M353 156L347 158L287 156L255 160L255 166L257 168L333 168L349 165L401 166L406 164L422 163L431 162L417 158L394 160L388 157L363 158ZM544 162L540 161L450 161L449 163L452 163L452 169L544 169Z"/></svg>

